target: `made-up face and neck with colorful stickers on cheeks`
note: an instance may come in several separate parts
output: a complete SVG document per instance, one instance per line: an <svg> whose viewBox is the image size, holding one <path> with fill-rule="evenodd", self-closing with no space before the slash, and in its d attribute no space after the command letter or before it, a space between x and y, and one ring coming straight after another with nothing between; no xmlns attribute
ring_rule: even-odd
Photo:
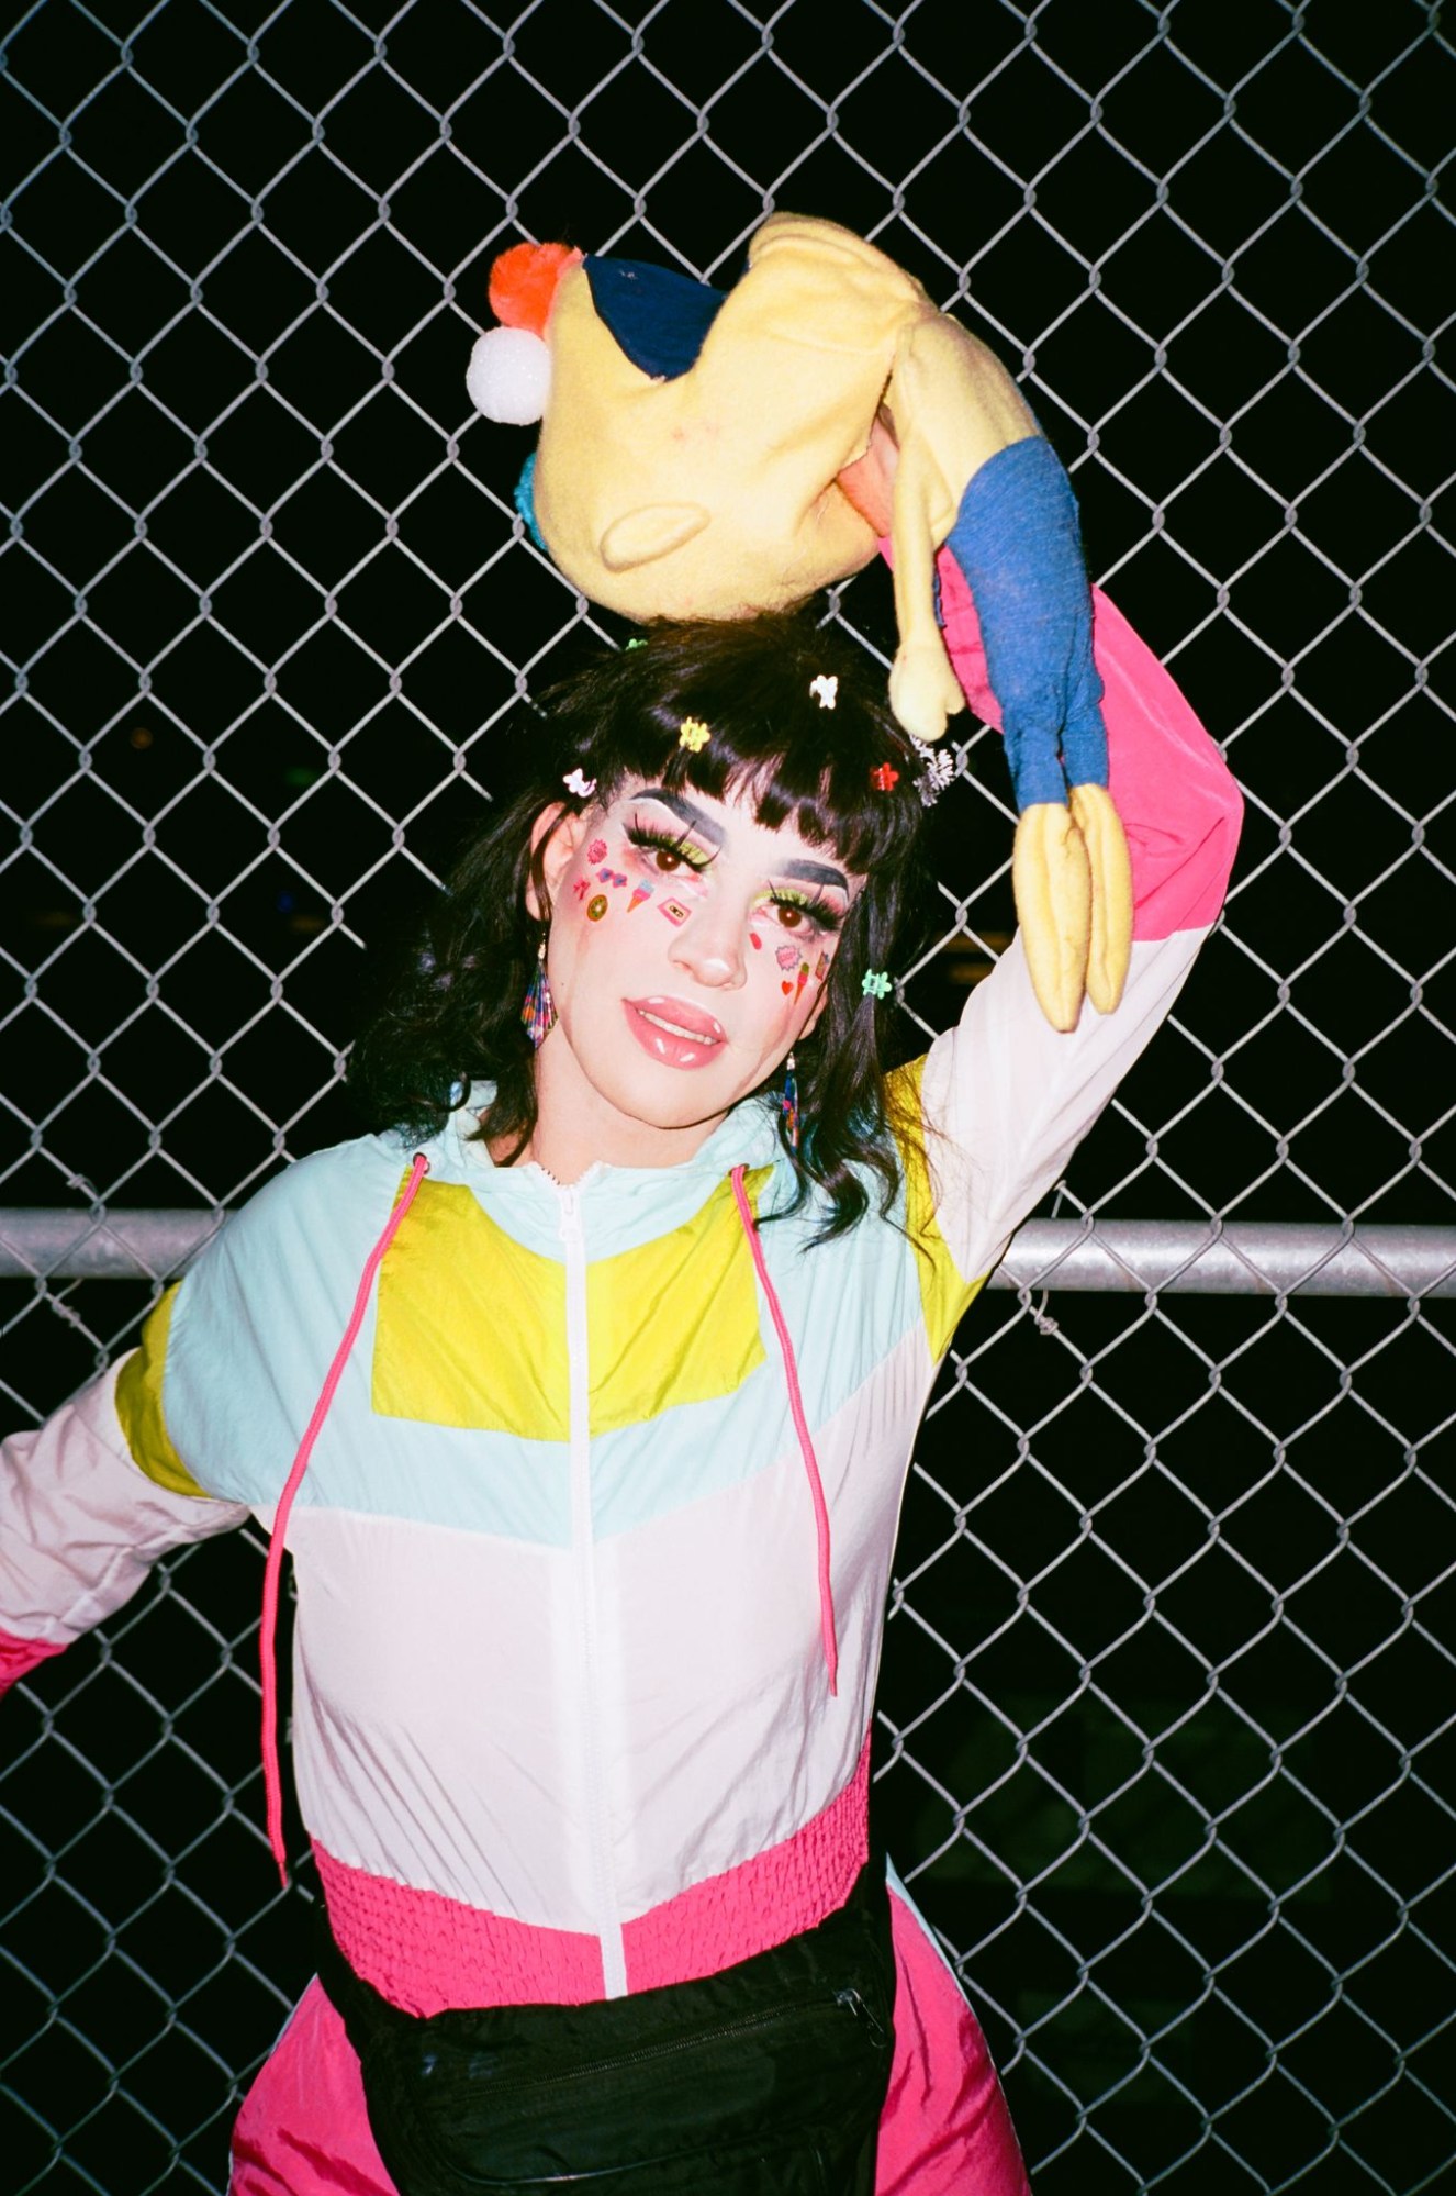
<svg viewBox="0 0 1456 2196"><path fill-rule="evenodd" d="M606 1159L687 1157L819 1019L863 878L742 799L637 782L538 832L558 1012L540 1129Z"/></svg>

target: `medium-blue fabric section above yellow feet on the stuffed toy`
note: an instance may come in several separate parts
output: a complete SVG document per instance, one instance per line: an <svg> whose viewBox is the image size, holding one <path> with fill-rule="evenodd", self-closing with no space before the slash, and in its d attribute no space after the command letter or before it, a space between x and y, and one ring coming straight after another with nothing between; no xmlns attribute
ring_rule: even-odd
<svg viewBox="0 0 1456 2196"><path fill-rule="evenodd" d="M1076 496L1043 435L971 477L947 542L982 621L1017 808L1107 784L1102 681ZM1059 760L1061 749L1061 760Z"/></svg>

